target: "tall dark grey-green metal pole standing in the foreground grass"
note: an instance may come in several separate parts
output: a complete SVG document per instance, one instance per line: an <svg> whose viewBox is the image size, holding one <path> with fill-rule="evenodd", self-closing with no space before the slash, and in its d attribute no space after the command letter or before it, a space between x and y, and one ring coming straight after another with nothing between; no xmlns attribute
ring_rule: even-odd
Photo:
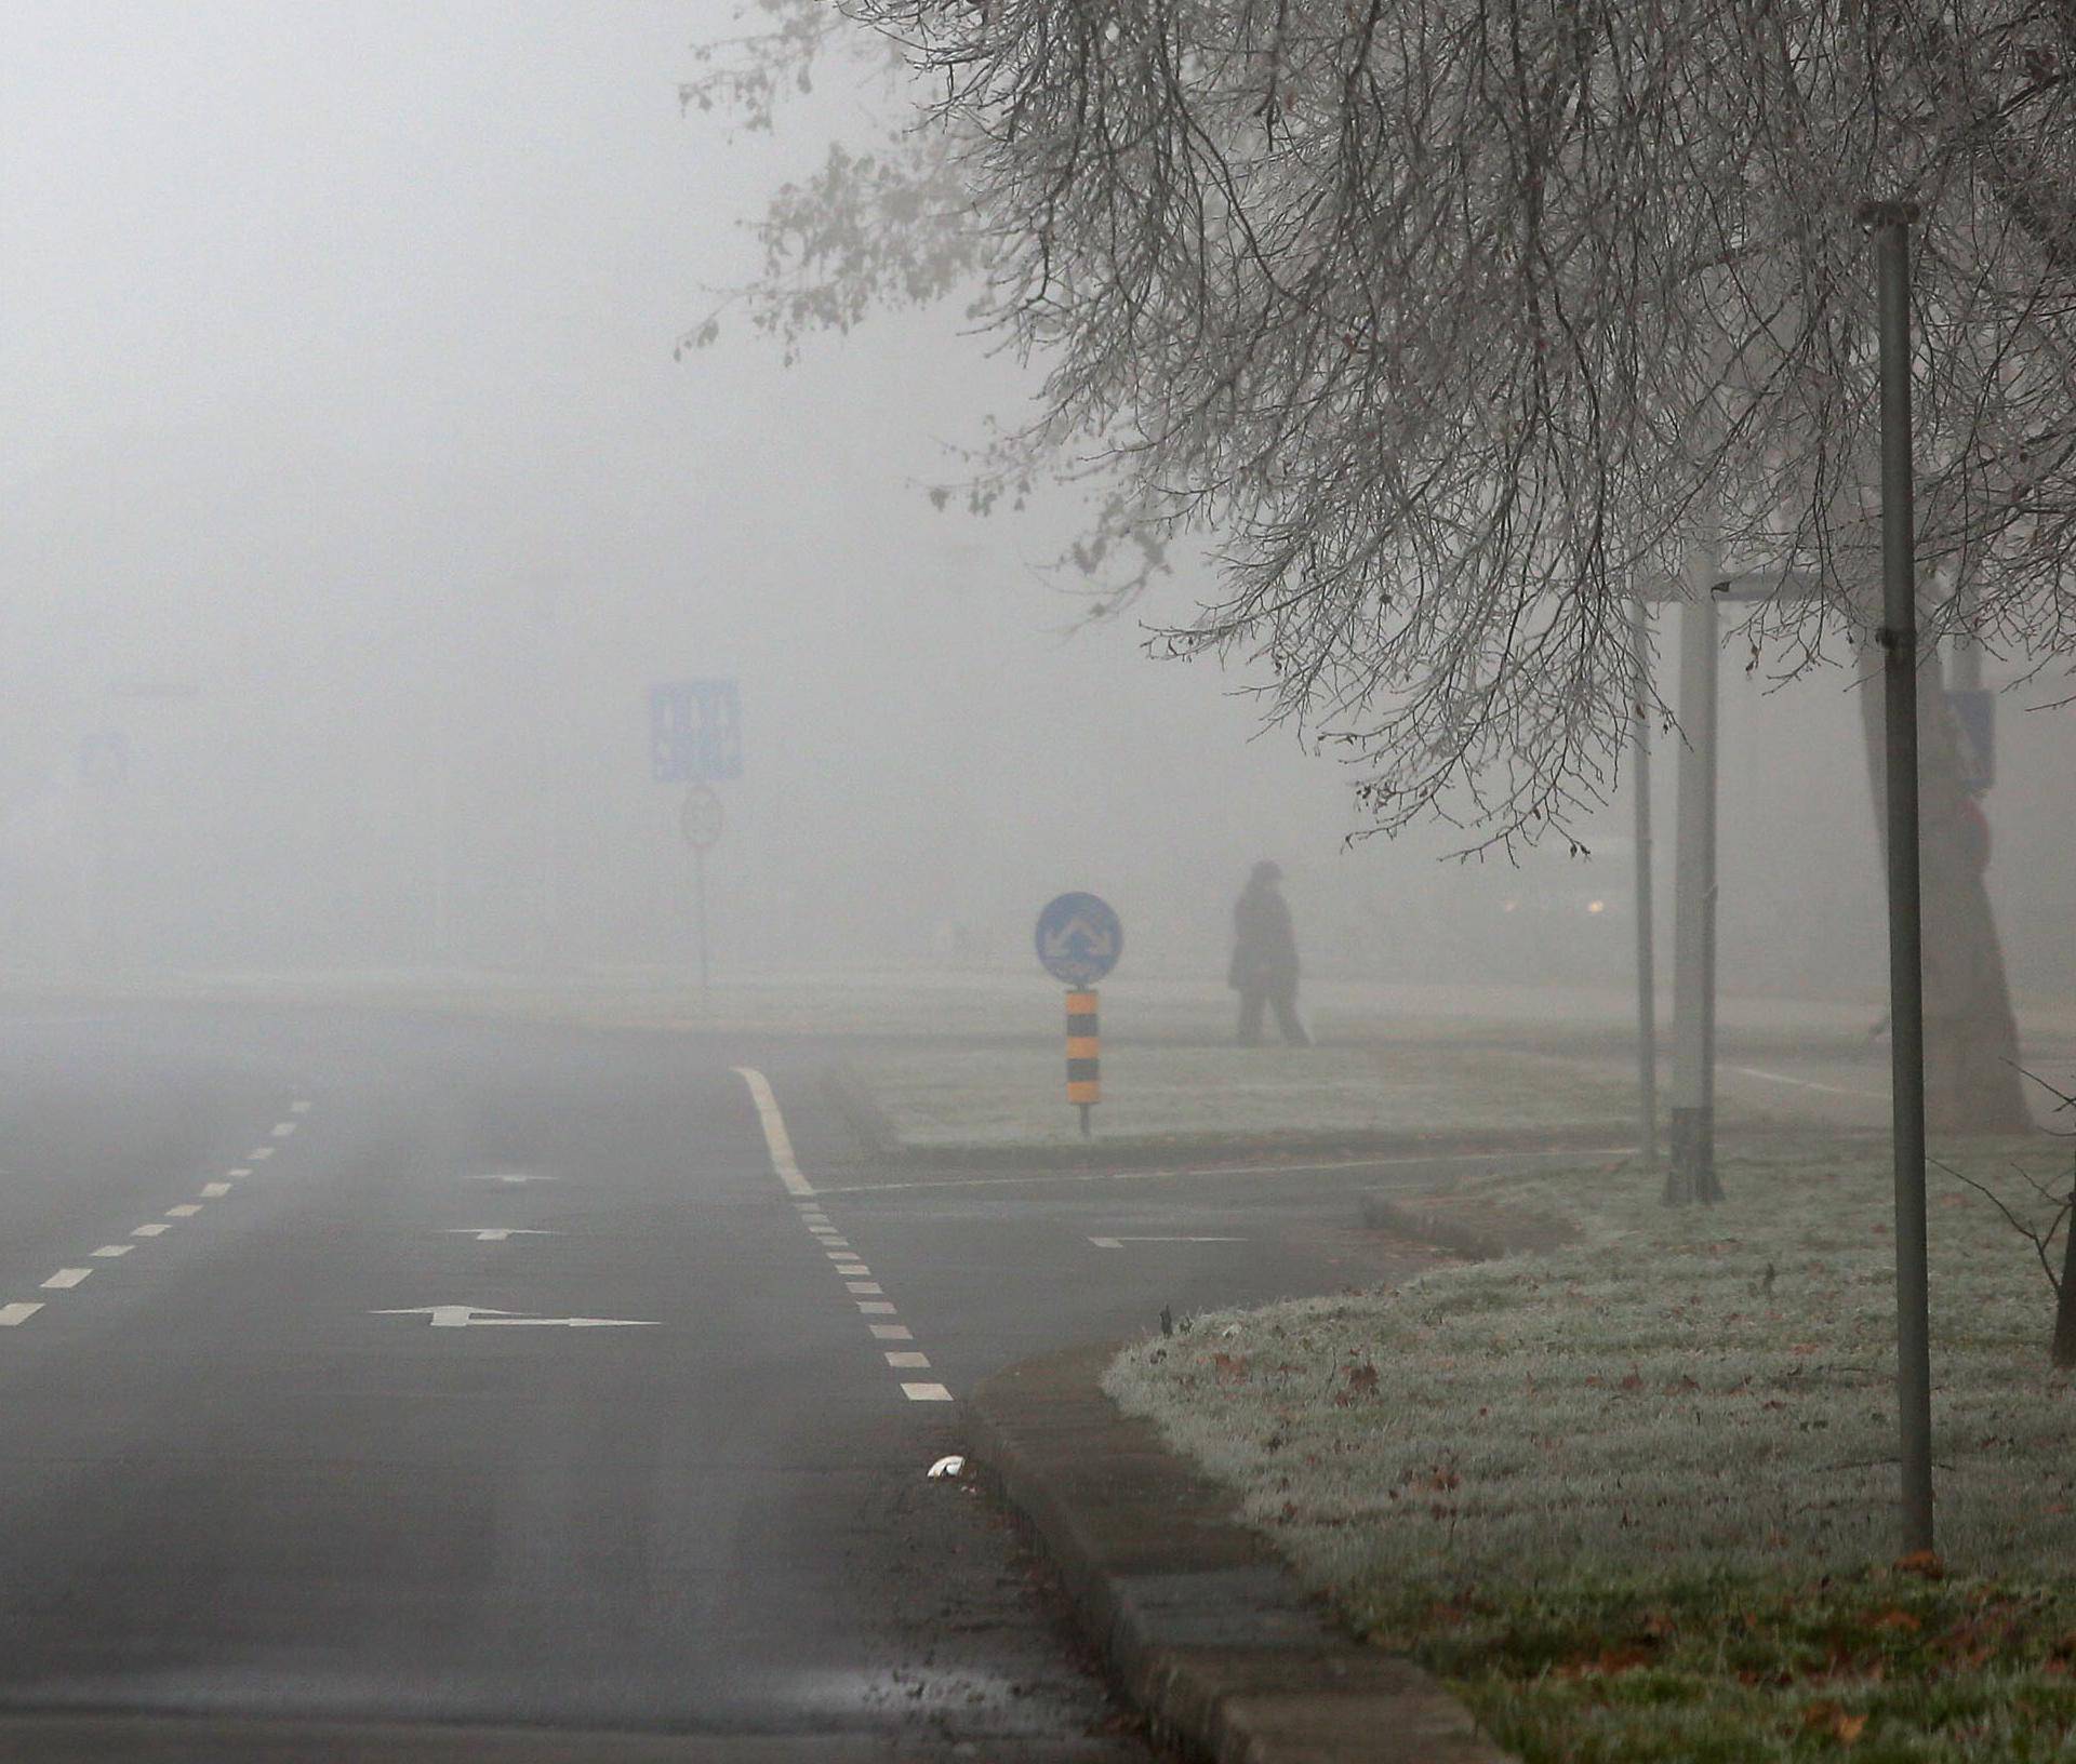
<svg viewBox="0 0 2076 1764"><path fill-rule="evenodd" d="M1870 203L1881 280L1881 647L1895 1137L1895 1411L1904 1550L1933 1548L1931 1280L1924 1256L1924 965L1918 917L1918 585L1910 461L1908 203Z"/></svg>

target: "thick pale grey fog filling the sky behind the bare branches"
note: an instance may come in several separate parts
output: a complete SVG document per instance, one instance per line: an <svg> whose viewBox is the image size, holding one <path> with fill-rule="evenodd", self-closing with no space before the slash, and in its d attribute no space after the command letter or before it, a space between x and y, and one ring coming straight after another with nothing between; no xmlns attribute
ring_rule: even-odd
<svg viewBox="0 0 2076 1764"><path fill-rule="evenodd" d="M1223 969L1289 872L1318 973L1621 984L1630 803L1462 870L1362 828L1244 674L1075 631L1073 508L924 486L1030 380L957 311L785 369L739 222L868 100L778 139L679 114L725 4L12 4L0 15L6 571L0 963L685 971L648 687L735 677L716 969L1028 963L1094 888L1142 971ZM1142 608L1210 591L1183 558ZM1671 618L1665 691L1671 695ZM1999 672L2001 668L2001 672ZM2010 666L1991 664L1993 679ZM1841 670L1723 666L1723 980L1875 996ZM2070 712L1999 712L2020 992L2076 980ZM1671 741L1659 753L1669 903ZM1592 903L1601 903L1594 911ZM1669 909L1667 909L1669 921Z"/></svg>

